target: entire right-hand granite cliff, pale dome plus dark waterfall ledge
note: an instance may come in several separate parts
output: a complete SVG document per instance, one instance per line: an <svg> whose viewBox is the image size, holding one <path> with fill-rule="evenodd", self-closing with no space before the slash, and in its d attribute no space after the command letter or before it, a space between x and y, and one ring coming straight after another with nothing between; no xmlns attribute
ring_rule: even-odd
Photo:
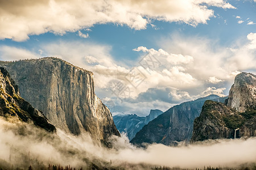
<svg viewBox="0 0 256 170"><path fill-rule="evenodd" d="M191 142L205 139L247 138L256 135L256 78L238 74L225 104L205 101L195 119Z"/></svg>

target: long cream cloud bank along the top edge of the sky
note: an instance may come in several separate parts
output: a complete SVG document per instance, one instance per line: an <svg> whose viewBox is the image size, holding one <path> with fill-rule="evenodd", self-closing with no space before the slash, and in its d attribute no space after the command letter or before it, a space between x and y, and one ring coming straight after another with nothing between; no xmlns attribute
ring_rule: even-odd
<svg viewBox="0 0 256 170"><path fill-rule="evenodd" d="M0 39L24 41L30 35L46 32L63 35L105 23L146 29L150 19L205 24L214 13L208 6L234 8L223 0L1 1ZM82 36L88 37L87 34Z"/></svg>

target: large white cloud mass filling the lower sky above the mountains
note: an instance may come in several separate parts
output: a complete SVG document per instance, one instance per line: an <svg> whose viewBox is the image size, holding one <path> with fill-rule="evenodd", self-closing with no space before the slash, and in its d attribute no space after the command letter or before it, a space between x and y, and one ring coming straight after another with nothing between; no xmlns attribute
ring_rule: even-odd
<svg viewBox="0 0 256 170"><path fill-rule="evenodd" d="M255 33L247 35L247 39L250 42L240 44L239 48L225 48L218 46L217 41L202 37L172 35L159 42L160 49L147 49L145 46L135 48L134 51L141 56L131 62L134 67L114 60L110 55L112 47L101 44L59 41L44 44L39 49L46 56L60 57L93 71L96 94L100 98L111 98L115 102L114 112L146 115L152 108L164 111L174 104L198 97L227 95L234 77L240 71L256 73ZM35 56L33 52L23 49L8 46L0 49L1 54L5 54L1 56L6 56L2 59L20 59L17 56L22 53L23 58ZM150 57L155 65L152 65ZM146 59L148 66L140 65L143 59ZM127 80L127 75L133 69L145 76L138 87L133 87ZM116 96L110 86L112 82L121 82L129 87L130 94ZM140 100L134 103L136 99Z"/></svg>

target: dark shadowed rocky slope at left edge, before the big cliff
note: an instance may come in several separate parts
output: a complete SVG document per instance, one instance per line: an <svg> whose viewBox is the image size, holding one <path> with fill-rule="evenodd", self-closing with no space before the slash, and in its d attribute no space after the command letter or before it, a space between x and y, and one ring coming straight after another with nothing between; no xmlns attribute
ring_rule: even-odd
<svg viewBox="0 0 256 170"><path fill-rule="evenodd" d="M18 117L20 121L32 123L47 131L56 131L55 126L42 117L42 112L20 97L19 88L9 73L3 67L0 70L0 116Z"/></svg>

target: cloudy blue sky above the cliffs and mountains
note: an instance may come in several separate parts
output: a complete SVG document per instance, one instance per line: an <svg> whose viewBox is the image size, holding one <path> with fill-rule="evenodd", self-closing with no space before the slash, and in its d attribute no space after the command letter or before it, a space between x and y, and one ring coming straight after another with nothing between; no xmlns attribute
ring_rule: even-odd
<svg viewBox="0 0 256 170"><path fill-rule="evenodd" d="M225 96L256 74L256 0L0 0L0 59L48 56L92 71L113 115Z"/></svg>

